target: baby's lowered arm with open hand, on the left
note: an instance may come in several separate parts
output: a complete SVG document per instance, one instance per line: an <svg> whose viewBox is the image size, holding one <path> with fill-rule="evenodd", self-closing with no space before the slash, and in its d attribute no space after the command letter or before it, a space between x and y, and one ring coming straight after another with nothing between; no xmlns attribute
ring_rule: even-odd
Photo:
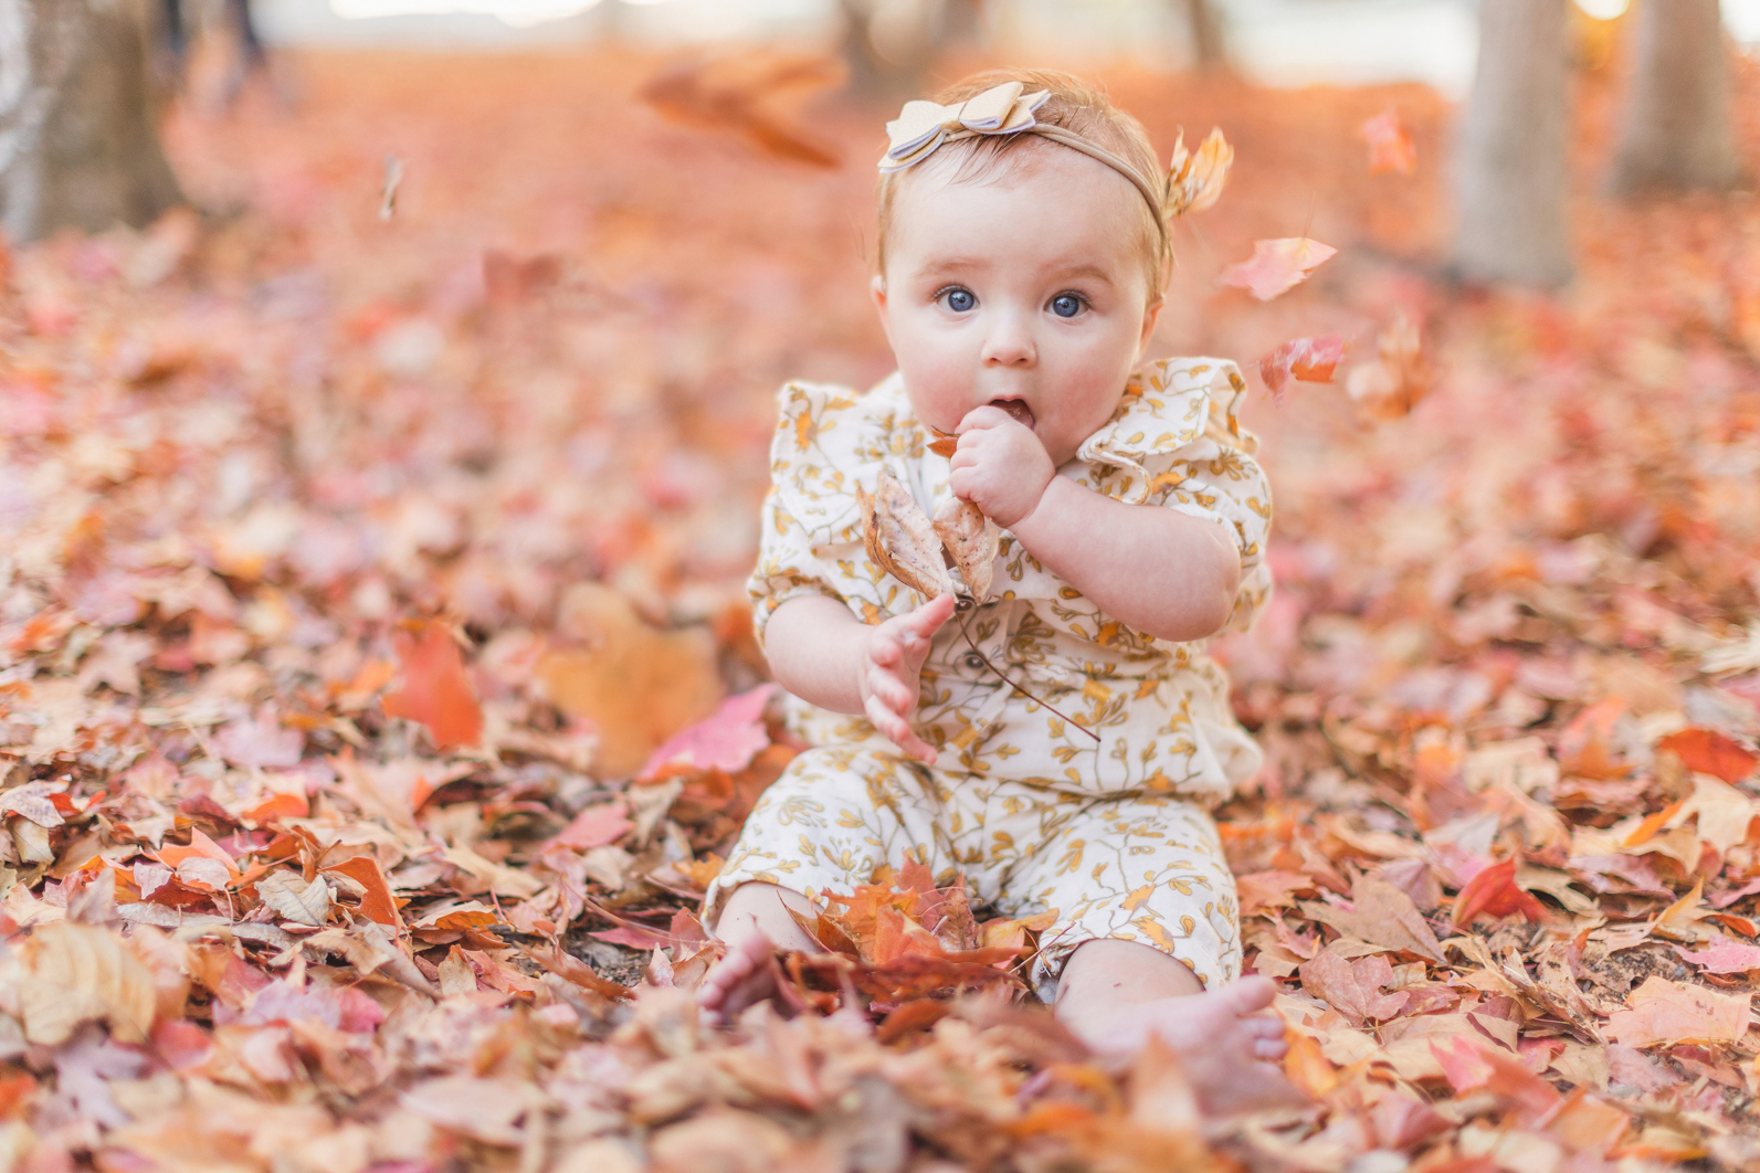
<svg viewBox="0 0 1760 1173"><path fill-rule="evenodd" d="M935 749L910 730L929 640L954 614L942 594L880 626L824 594L790 598L764 628L764 656L776 681L832 712L861 712L899 749L924 761Z"/></svg>

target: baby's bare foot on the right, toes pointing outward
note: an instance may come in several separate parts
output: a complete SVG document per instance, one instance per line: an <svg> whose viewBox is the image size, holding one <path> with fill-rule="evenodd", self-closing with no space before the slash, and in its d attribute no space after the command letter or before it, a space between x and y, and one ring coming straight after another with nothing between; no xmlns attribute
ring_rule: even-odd
<svg viewBox="0 0 1760 1173"><path fill-rule="evenodd" d="M1118 1062L1133 1057L1151 1032L1160 1036L1207 1113L1301 1104L1306 1097L1276 1062L1288 1050L1283 1022L1260 1013L1276 992L1269 978L1241 978L1204 994L1111 1008L1086 1016L1082 1034L1100 1057Z"/></svg>

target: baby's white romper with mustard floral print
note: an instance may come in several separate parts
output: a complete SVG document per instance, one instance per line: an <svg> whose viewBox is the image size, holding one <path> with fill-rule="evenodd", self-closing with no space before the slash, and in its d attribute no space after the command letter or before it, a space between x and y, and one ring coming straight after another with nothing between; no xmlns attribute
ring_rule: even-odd
<svg viewBox="0 0 1760 1173"><path fill-rule="evenodd" d="M1220 524L1241 550L1228 628L1271 591L1271 491L1236 420L1232 362L1165 359L1133 375L1112 419L1058 475L1111 498ZM759 640L790 598L825 594L878 624L922 601L862 549L855 487L889 468L926 514L950 496L949 463L892 375L866 396L788 383L750 591ZM1126 628L1042 568L1007 531L991 598L935 637L913 728L940 751L906 758L859 716L788 698L810 746L764 791L706 911L766 881L808 897L850 892L906 856L1008 916L1056 911L1033 978L1044 995L1095 937L1151 944L1214 985L1239 974L1234 878L1209 809L1260 763L1202 642ZM982 656L1044 705L1008 688ZM1082 728L1070 728L1056 709ZM1096 744L1082 730L1100 735Z"/></svg>

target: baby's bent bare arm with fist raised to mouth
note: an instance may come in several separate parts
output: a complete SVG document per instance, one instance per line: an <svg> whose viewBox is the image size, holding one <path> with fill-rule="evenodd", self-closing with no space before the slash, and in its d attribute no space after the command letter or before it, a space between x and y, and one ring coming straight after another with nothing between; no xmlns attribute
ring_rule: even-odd
<svg viewBox="0 0 1760 1173"><path fill-rule="evenodd" d="M952 468L956 494L1137 631L1200 640L1228 621L1241 556L1216 522L1125 505L1058 477L1038 436L1000 408L966 415Z"/></svg>

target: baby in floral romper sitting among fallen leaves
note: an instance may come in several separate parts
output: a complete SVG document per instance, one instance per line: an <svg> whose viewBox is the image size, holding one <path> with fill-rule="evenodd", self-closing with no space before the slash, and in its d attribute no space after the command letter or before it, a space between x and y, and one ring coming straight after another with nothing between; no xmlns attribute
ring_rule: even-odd
<svg viewBox="0 0 1760 1173"><path fill-rule="evenodd" d="M790 907L917 860L1054 914L1031 976L1100 1055L1156 1034L1214 1111L1290 1099L1207 812L1260 761L1204 640L1269 593L1271 494L1232 364L1133 373L1167 179L1137 120L1063 74L970 77L887 130L873 299L899 369L781 390L750 586L813 747L709 888L729 951L700 1004L767 997L769 951L817 948ZM924 600L864 554L855 494L882 470L1001 529L987 600Z"/></svg>

